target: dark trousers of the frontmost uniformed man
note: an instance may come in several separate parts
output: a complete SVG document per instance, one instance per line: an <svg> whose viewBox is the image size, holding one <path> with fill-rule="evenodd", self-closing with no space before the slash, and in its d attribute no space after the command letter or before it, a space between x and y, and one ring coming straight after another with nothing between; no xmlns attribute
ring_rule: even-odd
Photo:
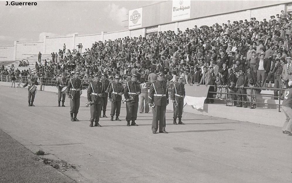
<svg viewBox="0 0 292 183"><path fill-rule="evenodd" d="M152 132L157 132L158 130L158 121L159 121L159 132L165 131L165 112L166 106L155 106L153 109L153 118L152 118Z"/></svg>

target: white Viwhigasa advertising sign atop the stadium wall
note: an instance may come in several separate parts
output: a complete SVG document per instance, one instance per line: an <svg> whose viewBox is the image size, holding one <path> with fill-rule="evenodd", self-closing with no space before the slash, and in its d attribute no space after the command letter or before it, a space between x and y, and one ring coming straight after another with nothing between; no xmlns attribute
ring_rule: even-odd
<svg viewBox="0 0 292 183"><path fill-rule="evenodd" d="M171 21L190 18L191 1L173 1Z"/></svg>

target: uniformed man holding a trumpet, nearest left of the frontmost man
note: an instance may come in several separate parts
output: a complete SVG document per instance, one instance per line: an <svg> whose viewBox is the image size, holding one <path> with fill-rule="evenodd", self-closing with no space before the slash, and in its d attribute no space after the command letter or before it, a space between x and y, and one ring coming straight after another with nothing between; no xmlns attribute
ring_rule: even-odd
<svg viewBox="0 0 292 183"><path fill-rule="evenodd" d="M137 75L132 74L131 81L128 81L126 87L124 88L124 97L126 99L126 109L127 109L127 126L138 126L135 123L137 119L137 112L139 106L139 95L141 94L141 89L139 83L137 82ZM130 125L130 120L132 123Z"/></svg>

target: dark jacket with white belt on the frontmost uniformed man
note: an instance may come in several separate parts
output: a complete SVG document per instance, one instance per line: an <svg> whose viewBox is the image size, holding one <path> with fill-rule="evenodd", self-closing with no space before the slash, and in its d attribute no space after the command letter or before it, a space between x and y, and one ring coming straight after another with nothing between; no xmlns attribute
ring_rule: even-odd
<svg viewBox="0 0 292 183"><path fill-rule="evenodd" d="M154 94L163 96L154 96ZM154 103L156 106L167 106L169 103L168 99L168 87L165 81L155 81L150 86L148 94L148 103Z"/></svg>

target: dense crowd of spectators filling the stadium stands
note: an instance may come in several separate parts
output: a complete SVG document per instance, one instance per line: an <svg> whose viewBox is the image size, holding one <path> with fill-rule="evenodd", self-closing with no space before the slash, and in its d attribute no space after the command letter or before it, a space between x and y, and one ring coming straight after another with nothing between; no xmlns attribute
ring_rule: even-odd
<svg viewBox="0 0 292 183"><path fill-rule="evenodd" d="M268 21L251 18L249 21L231 23L228 20L211 27L195 25L186 30L160 31L146 37L140 35L98 41L82 54L77 45L78 51L67 50L63 56L66 49L63 46L58 53L54 53L57 59L45 60L43 65L36 62L35 74L42 78L56 78L65 72L72 77L73 71L79 70L81 79L89 83L96 72L107 73L109 78L119 75L122 81L130 80L130 75L136 73L139 80L153 82L156 80L155 73L163 71L170 82L176 82L176 77L183 75L186 84L215 85L217 92L234 93L228 97L243 101L237 106L246 107L246 97L235 96L236 93L249 92L243 87L265 87L266 83L274 83L275 88L280 88L285 83L288 88L288 80L292 79L289 72L291 23L291 14L281 11ZM288 67L286 73L285 67ZM3 76L26 76L25 73L30 74L29 71L19 73L13 68L8 72L4 66L1 67ZM274 96L278 96L278 91ZM216 98L227 97L218 93Z"/></svg>

